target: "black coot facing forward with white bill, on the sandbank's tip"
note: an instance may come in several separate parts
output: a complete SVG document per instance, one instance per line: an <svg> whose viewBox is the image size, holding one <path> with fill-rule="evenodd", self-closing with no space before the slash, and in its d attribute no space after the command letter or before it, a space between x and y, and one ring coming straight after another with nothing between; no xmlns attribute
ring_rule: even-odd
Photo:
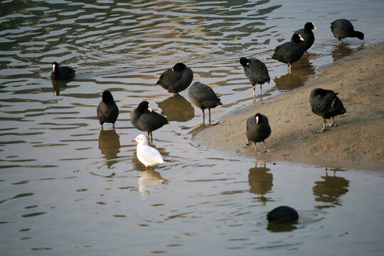
<svg viewBox="0 0 384 256"><path fill-rule="evenodd" d="M249 146L250 142L254 142L257 154L262 154L265 151L273 151L272 149L267 149L267 145L265 145L265 139L270 137L270 134L271 127L268 122L268 118L264 114L257 113L247 119L247 146ZM263 151L257 150L257 142L264 143L265 149Z"/></svg>

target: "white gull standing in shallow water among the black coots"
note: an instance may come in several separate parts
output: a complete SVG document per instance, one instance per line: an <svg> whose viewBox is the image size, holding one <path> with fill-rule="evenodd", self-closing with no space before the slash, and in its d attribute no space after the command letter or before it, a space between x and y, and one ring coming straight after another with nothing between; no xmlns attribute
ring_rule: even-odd
<svg viewBox="0 0 384 256"><path fill-rule="evenodd" d="M137 159L144 164L147 170L148 166L156 166L164 163L163 156L161 156L157 149L148 146L148 140L143 134L139 134L132 142L137 142Z"/></svg>

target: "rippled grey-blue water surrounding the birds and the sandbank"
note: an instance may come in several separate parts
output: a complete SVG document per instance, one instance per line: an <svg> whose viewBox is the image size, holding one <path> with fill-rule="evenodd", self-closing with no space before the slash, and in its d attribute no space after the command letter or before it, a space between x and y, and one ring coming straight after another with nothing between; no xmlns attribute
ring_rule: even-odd
<svg viewBox="0 0 384 256"><path fill-rule="evenodd" d="M155 86L182 61L223 106L250 105L238 59L270 71L263 100L304 85L322 65L361 49L338 46L329 23L351 18L366 45L383 41L382 1L2 1L0 11L0 242L2 255L382 255L383 174L260 163L198 146L201 110L187 92ZM294 74L275 46L312 21L316 41ZM76 70L49 79L50 63ZM119 106L100 130L103 90ZM258 92L258 90L256 90ZM144 171L129 112L142 100L170 124L154 132L167 163ZM271 227L289 205L299 223Z"/></svg>

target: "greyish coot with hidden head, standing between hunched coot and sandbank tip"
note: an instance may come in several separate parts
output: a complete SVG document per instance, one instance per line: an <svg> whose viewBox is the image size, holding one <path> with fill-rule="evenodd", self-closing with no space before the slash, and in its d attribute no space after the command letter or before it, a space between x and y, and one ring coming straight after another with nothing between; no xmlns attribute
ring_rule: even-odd
<svg viewBox="0 0 384 256"><path fill-rule="evenodd" d="M188 90L188 97L192 104L200 108L203 111L203 120L205 119L204 110L208 109L209 122L210 122L210 109L219 105L223 105L220 102L218 96L213 92L212 88L208 85L204 85L201 82L193 82L191 88Z"/></svg>

